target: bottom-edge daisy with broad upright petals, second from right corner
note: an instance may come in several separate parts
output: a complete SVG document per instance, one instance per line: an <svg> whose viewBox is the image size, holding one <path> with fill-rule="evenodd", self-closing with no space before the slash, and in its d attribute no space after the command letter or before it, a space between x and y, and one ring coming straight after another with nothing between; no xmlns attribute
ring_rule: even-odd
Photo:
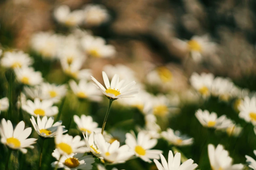
<svg viewBox="0 0 256 170"><path fill-rule="evenodd" d="M229 152L225 150L220 144L217 146L216 149L212 144L209 144L208 156L213 170L242 170L244 168L244 165L241 163L232 165L233 160L229 156Z"/></svg>

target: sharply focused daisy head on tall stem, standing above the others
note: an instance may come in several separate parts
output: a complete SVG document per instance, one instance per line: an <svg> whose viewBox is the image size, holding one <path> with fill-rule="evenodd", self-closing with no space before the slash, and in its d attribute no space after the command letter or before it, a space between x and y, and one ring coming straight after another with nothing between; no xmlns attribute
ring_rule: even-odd
<svg viewBox="0 0 256 170"><path fill-rule="evenodd" d="M107 89L105 89L94 77L91 77L101 92L111 100L116 100L122 97L132 97L133 94L138 93L138 89L130 90L136 84L135 81L131 81L124 85L125 80L119 81L119 76L115 74L110 83L109 78L104 71L102 72L102 76Z"/></svg>

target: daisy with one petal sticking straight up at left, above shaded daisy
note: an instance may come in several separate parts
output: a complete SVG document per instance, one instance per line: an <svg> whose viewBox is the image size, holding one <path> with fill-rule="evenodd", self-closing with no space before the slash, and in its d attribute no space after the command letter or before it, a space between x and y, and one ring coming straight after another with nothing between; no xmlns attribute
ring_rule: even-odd
<svg viewBox="0 0 256 170"><path fill-rule="evenodd" d="M84 153L90 151L86 147L84 140L80 136L70 136L68 134L62 135L62 127L59 126L55 136L55 145L59 149L61 155L70 155L72 153Z"/></svg>

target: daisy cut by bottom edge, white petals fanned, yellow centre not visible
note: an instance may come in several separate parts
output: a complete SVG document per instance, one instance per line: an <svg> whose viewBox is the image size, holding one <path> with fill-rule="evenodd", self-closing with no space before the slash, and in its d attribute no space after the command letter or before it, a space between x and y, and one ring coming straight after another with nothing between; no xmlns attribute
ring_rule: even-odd
<svg viewBox="0 0 256 170"><path fill-rule="evenodd" d="M168 154L168 163L166 159L160 154L162 164L158 160L154 159L154 163L158 170L193 170L197 167L196 163L192 159L188 159L184 163L180 164L180 153L177 152L174 156L171 150Z"/></svg>

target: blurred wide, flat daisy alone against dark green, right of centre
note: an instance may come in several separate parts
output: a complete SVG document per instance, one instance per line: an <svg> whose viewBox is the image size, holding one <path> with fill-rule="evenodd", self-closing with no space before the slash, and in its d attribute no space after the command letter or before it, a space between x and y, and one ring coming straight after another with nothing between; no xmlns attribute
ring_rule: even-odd
<svg viewBox="0 0 256 170"><path fill-rule="evenodd" d="M218 118L215 112L210 113L208 110L202 111L198 109L195 116L202 126L208 128L226 129L233 123L226 115L222 115Z"/></svg>

